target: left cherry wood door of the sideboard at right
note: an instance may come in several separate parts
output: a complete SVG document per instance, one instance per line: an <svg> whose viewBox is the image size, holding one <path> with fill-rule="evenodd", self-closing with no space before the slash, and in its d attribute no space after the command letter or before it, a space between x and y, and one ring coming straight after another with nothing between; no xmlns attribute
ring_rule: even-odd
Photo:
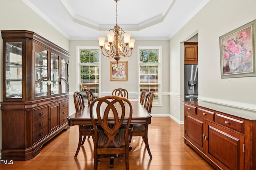
<svg viewBox="0 0 256 170"><path fill-rule="evenodd" d="M204 141L202 135L204 134L204 121L200 117L196 117L190 113L186 114L187 131L186 137L194 141L194 145L198 149L204 151Z"/></svg>

